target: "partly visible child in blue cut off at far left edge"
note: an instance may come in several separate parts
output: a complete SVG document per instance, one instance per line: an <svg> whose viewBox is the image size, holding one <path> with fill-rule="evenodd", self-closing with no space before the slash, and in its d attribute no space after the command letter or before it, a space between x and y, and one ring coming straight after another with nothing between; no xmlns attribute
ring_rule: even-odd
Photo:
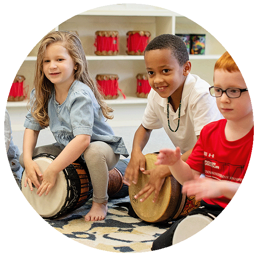
<svg viewBox="0 0 256 256"><path fill-rule="evenodd" d="M15 177L15 180L20 188L20 151L17 145L14 145L12 140L12 127L9 113L6 109L5 118L4 118L4 137L6 144L6 152L9 160L9 165L12 170L12 174Z"/></svg>

